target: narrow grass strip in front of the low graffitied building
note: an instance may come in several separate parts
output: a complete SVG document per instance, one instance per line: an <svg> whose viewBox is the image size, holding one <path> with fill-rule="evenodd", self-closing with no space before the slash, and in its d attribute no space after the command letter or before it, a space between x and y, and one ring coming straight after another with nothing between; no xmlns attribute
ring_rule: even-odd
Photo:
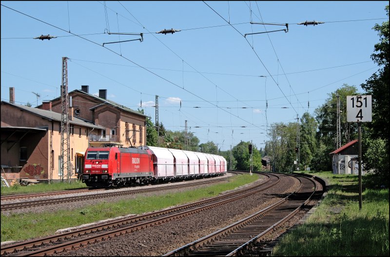
<svg viewBox="0 0 390 257"><path fill-rule="evenodd" d="M10 187L1 186L1 195L11 195L11 194L32 194L32 193L41 193L41 192L51 192L67 189L78 189L78 188L87 188L85 183L76 181L72 183L42 183L23 186L20 184L15 184Z"/></svg>

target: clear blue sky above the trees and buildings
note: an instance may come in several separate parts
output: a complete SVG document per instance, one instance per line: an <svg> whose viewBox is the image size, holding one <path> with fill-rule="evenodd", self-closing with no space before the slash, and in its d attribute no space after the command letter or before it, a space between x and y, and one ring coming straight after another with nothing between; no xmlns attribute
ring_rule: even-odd
<svg viewBox="0 0 390 257"><path fill-rule="evenodd" d="M68 57L68 92L106 89L154 123L158 95L166 129L183 131L187 121L200 143L260 148L273 123L313 115L343 84L364 93L378 70L372 27L387 19L387 4L1 1L1 100L10 87L20 105L59 97ZM175 32L157 33L164 29ZM34 39L41 35L55 38Z"/></svg>

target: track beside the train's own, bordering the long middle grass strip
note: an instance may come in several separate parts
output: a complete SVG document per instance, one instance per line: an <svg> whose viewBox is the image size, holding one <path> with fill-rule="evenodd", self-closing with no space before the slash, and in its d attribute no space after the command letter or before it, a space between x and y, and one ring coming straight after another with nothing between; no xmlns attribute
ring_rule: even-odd
<svg viewBox="0 0 390 257"><path fill-rule="evenodd" d="M226 180L226 177L220 178L217 181ZM35 201L25 201L25 202L15 202L15 203L3 203L0 205L1 211L8 211L8 210L14 210L14 209L21 209L21 208L28 208L28 207L36 207L36 206L44 206L49 204L59 204L59 203L66 203L66 202L75 202L75 201L86 201L86 200L93 200L93 199L102 199L102 198L108 198L108 197L117 197L117 196L123 196L123 195L132 195L132 194L140 194L140 193L148 193L148 192L155 192L155 191L161 191L161 190L167 190L167 189L176 189L176 188L183 188L188 187L189 185L203 185L203 184L211 184L215 183L216 180L205 180L205 181L199 181L194 182L191 184L170 184L168 186L161 186L161 187L153 187L153 188L141 188L141 189L134 189L134 190L126 190L126 191L117 191L113 190L114 192L105 192L105 193L98 193L93 195L84 195L84 196L72 196L72 197L63 197L63 198L56 198L56 199L44 199L44 200L35 200ZM70 193L70 192L68 192ZM72 192L73 193L73 192ZM44 196L51 196L50 193L45 194Z"/></svg>

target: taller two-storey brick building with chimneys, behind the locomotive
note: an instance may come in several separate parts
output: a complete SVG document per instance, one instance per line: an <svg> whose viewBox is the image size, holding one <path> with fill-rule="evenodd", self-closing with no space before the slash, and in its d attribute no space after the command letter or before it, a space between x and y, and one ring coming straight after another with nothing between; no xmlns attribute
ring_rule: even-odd
<svg viewBox="0 0 390 257"><path fill-rule="evenodd" d="M99 90L99 96L89 93L89 86L81 86L69 95L69 115L104 127L100 134L89 138L90 146L103 144L123 147L146 145L146 115L107 99L107 90ZM37 108L61 113L61 98L44 102Z"/></svg>

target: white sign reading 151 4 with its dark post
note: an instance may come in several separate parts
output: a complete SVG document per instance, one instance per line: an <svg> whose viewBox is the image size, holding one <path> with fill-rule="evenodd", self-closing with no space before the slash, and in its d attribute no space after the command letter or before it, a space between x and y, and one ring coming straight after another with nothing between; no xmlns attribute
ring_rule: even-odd
<svg viewBox="0 0 390 257"><path fill-rule="evenodd" d="M347 122L357 122L359 160L359 210L362 209L362 135L361 123L372 121L371 95L347 96Z"/></svg>

